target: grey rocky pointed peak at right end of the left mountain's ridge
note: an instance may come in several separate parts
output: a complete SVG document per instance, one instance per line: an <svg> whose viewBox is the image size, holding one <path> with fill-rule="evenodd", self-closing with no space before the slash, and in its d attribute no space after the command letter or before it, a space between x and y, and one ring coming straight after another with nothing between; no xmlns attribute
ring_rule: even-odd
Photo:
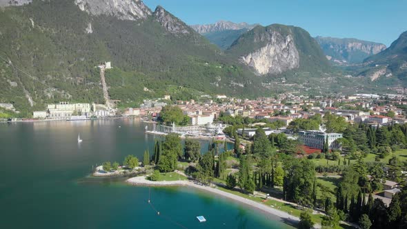
<svg viewBox="0 0 407 229"><path fill-rule="evenodd" d="M155 21L158 21L163 28L172 34L189 34L190 28L183 23L183 21L177 19L174 15L167 12L161 6L157 6L154 12Z"/></svg>

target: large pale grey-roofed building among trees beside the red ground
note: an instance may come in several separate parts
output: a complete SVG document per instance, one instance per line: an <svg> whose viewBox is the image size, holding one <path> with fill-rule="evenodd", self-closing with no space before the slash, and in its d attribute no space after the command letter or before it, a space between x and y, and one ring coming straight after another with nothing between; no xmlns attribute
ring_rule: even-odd
<svg viewBox="0 0 407 229"><path fill-rule="evenodd" d="M328 148L331 150L339 149L341 145L337 142L337 139L342 137L339 133L324 133L319 130L306 130L298 132L298 139L305 146L312 148L323 149L326 138L328 137Z"/></svg>

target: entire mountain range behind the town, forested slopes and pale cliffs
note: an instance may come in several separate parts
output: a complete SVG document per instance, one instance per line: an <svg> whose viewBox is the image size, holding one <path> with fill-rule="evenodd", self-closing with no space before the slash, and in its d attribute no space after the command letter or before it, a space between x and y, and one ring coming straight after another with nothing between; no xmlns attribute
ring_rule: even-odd
<svg viewBox="0 0 407 229"><path fill-rule="evenodd" d="M317 39L295 26L221 21L191 27L140 0L0 0L0 6L0 103L26 116L58 101L104 103L97 66L105 61L113 66L106 70L108 94L122 107L164 94L338 94L376 88L382 79L404 82L398 76L372 81L368 75L381 59L404 52L402 41L387 49L393 51L342 70L331 66ZM210 34L224 39L220 48L206 38ZM338 47L333 50L341 52ZM386 72L403 74L396 68L404 69L405 57L398 57Z"/></svg>

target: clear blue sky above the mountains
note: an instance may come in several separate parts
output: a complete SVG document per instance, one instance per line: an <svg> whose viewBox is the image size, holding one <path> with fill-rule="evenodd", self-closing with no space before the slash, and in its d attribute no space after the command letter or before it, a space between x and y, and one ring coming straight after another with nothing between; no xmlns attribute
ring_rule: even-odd
<svg viewBox="0 0 407 229"><path fill-rule="evenodd" d="M405 0L143 0L188 24L233 22L299 26L312 36L353 37L390 46L407 30Z"/></svg>

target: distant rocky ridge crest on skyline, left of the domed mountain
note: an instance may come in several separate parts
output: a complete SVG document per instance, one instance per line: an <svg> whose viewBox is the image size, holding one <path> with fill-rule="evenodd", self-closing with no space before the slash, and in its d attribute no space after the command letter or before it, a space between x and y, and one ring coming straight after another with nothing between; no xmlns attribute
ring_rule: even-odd
<svg viewBox="0 0 407 229"><path fill-rule="evenodd" d="M231 21L218 21L217 23L214 24L208 24L208 25L193 25L191 28L193 28L195 31L199 32L200 34L208 33L208 32L221 32L224 30L241 30L241 29L248 29L251 30L252 28L255 28L258 26L258 24L254 25L249 25L246 22L242 23L233 23Z"/></svg>

